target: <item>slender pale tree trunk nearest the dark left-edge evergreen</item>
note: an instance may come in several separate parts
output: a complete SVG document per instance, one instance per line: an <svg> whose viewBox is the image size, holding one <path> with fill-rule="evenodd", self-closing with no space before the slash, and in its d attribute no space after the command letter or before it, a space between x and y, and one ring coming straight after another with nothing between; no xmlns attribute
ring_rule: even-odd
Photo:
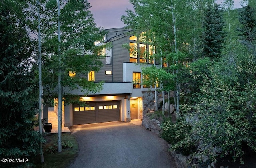
<svg viewBox="0 0 256 168"><path fill-rule="evenodd" d="M38 13L38 71L39 71L39 105L38 105L38 123L39 123L39 134L42 135L42 51L41 51L41 20L40 20L40 10L39 10L39 0L37 3L37 13ZM42 142L39 144L40 148L40 158L41 163L44 163L44 153Z"/></svg>

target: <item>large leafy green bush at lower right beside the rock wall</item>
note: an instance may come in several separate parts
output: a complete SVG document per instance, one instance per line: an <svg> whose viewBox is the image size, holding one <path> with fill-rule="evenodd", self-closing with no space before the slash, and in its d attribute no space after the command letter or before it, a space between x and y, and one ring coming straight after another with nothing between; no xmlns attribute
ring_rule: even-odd
<svg viewBox="0 0 256 168"><path fill-rule="evenodd" d="M196 145L197 150L190 152L197 158L214 160L219 150L222 156L232 154L233 160L241 162L243 143L256 151L255 57L245 57L236 65L238 79L232 84L210 68L211 78L202 77L200 92L181 106L180 119L162 125L162 136L173 142L173 150Z"/></svg>

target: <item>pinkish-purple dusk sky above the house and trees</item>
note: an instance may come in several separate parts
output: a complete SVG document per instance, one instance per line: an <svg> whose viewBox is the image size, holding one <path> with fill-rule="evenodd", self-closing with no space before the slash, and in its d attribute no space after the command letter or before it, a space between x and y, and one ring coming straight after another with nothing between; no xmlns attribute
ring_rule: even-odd
<svg viewBox="0 0 256 168"><path fill-rule="evenodd" d="M216 0L219 4L222 1ZM92 11L95 23L103 29L124 27L120 18L126 15L126 9L133 9L129 0L88 0L88 2L92 6L89 10ZM234 0L234 7L241 8L240 0Z"/></svg>

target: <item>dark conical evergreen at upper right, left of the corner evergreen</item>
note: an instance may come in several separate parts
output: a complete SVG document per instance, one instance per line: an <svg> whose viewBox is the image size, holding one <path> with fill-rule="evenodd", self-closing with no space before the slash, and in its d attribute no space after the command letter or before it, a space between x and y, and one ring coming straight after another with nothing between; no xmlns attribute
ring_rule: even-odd
<svg viewBox="0 0 256 168"><path fill-rule="evenodd" d="M202 23L203 57L210 57L212 60L220 57L226 36L226 32L223 30L224 26L225 23L220 5L214 4L212 6L208 4Z"/></svg>

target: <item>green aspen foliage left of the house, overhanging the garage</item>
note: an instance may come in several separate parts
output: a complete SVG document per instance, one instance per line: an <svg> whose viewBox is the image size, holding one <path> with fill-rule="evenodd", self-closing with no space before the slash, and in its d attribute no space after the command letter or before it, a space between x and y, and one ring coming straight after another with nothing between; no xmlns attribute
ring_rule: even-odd
<svg viewBox="0 0 256 168"><path fill-rule="evenodd" d="M27 25L33 32L38 32L38 14L34 2L29 2L31 8L27 17ZM42 85L44 87L44 101L53 99L58 95L54 90L58 84L59 69L62 70L62 87L64 97L70 97L69 92L78 89L85 94L98 92L102 89L102 82L88 81L86 77L90 71L97 73L103 66L105 55L98 55L103 48L110 45L95 45L102 42L105 31L96 27L90 4L87 0L60 1L60 31L61 42L58 42L58 6L54 0L42 0L40 2L40 20L42 36ZM38 39L33 43L38 45ZM60 57L58 47L60 46ZM37 56L37 55L36 55ZM37 59L37 58L35 58ZM38 66L32 67L38 77ZM75 72L75 77L70 77L69 72ZM77 97L76 97L77 98ZM66 99L70 103L71 99Z"/></svg>

